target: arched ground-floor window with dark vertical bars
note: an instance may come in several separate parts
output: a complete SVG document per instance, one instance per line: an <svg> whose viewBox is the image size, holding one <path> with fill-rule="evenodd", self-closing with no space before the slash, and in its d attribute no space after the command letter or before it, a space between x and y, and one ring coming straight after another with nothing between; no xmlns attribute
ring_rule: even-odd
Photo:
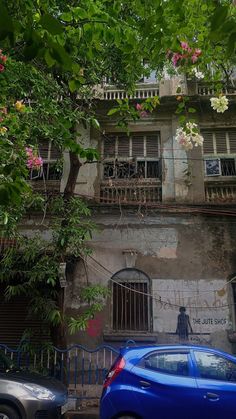
<svg viewBox="0 0 236 419"><path fill-rule="evenodd" d="M136 269L124 269L112 277L114 331L150 330L149 278Z"/></svg>

